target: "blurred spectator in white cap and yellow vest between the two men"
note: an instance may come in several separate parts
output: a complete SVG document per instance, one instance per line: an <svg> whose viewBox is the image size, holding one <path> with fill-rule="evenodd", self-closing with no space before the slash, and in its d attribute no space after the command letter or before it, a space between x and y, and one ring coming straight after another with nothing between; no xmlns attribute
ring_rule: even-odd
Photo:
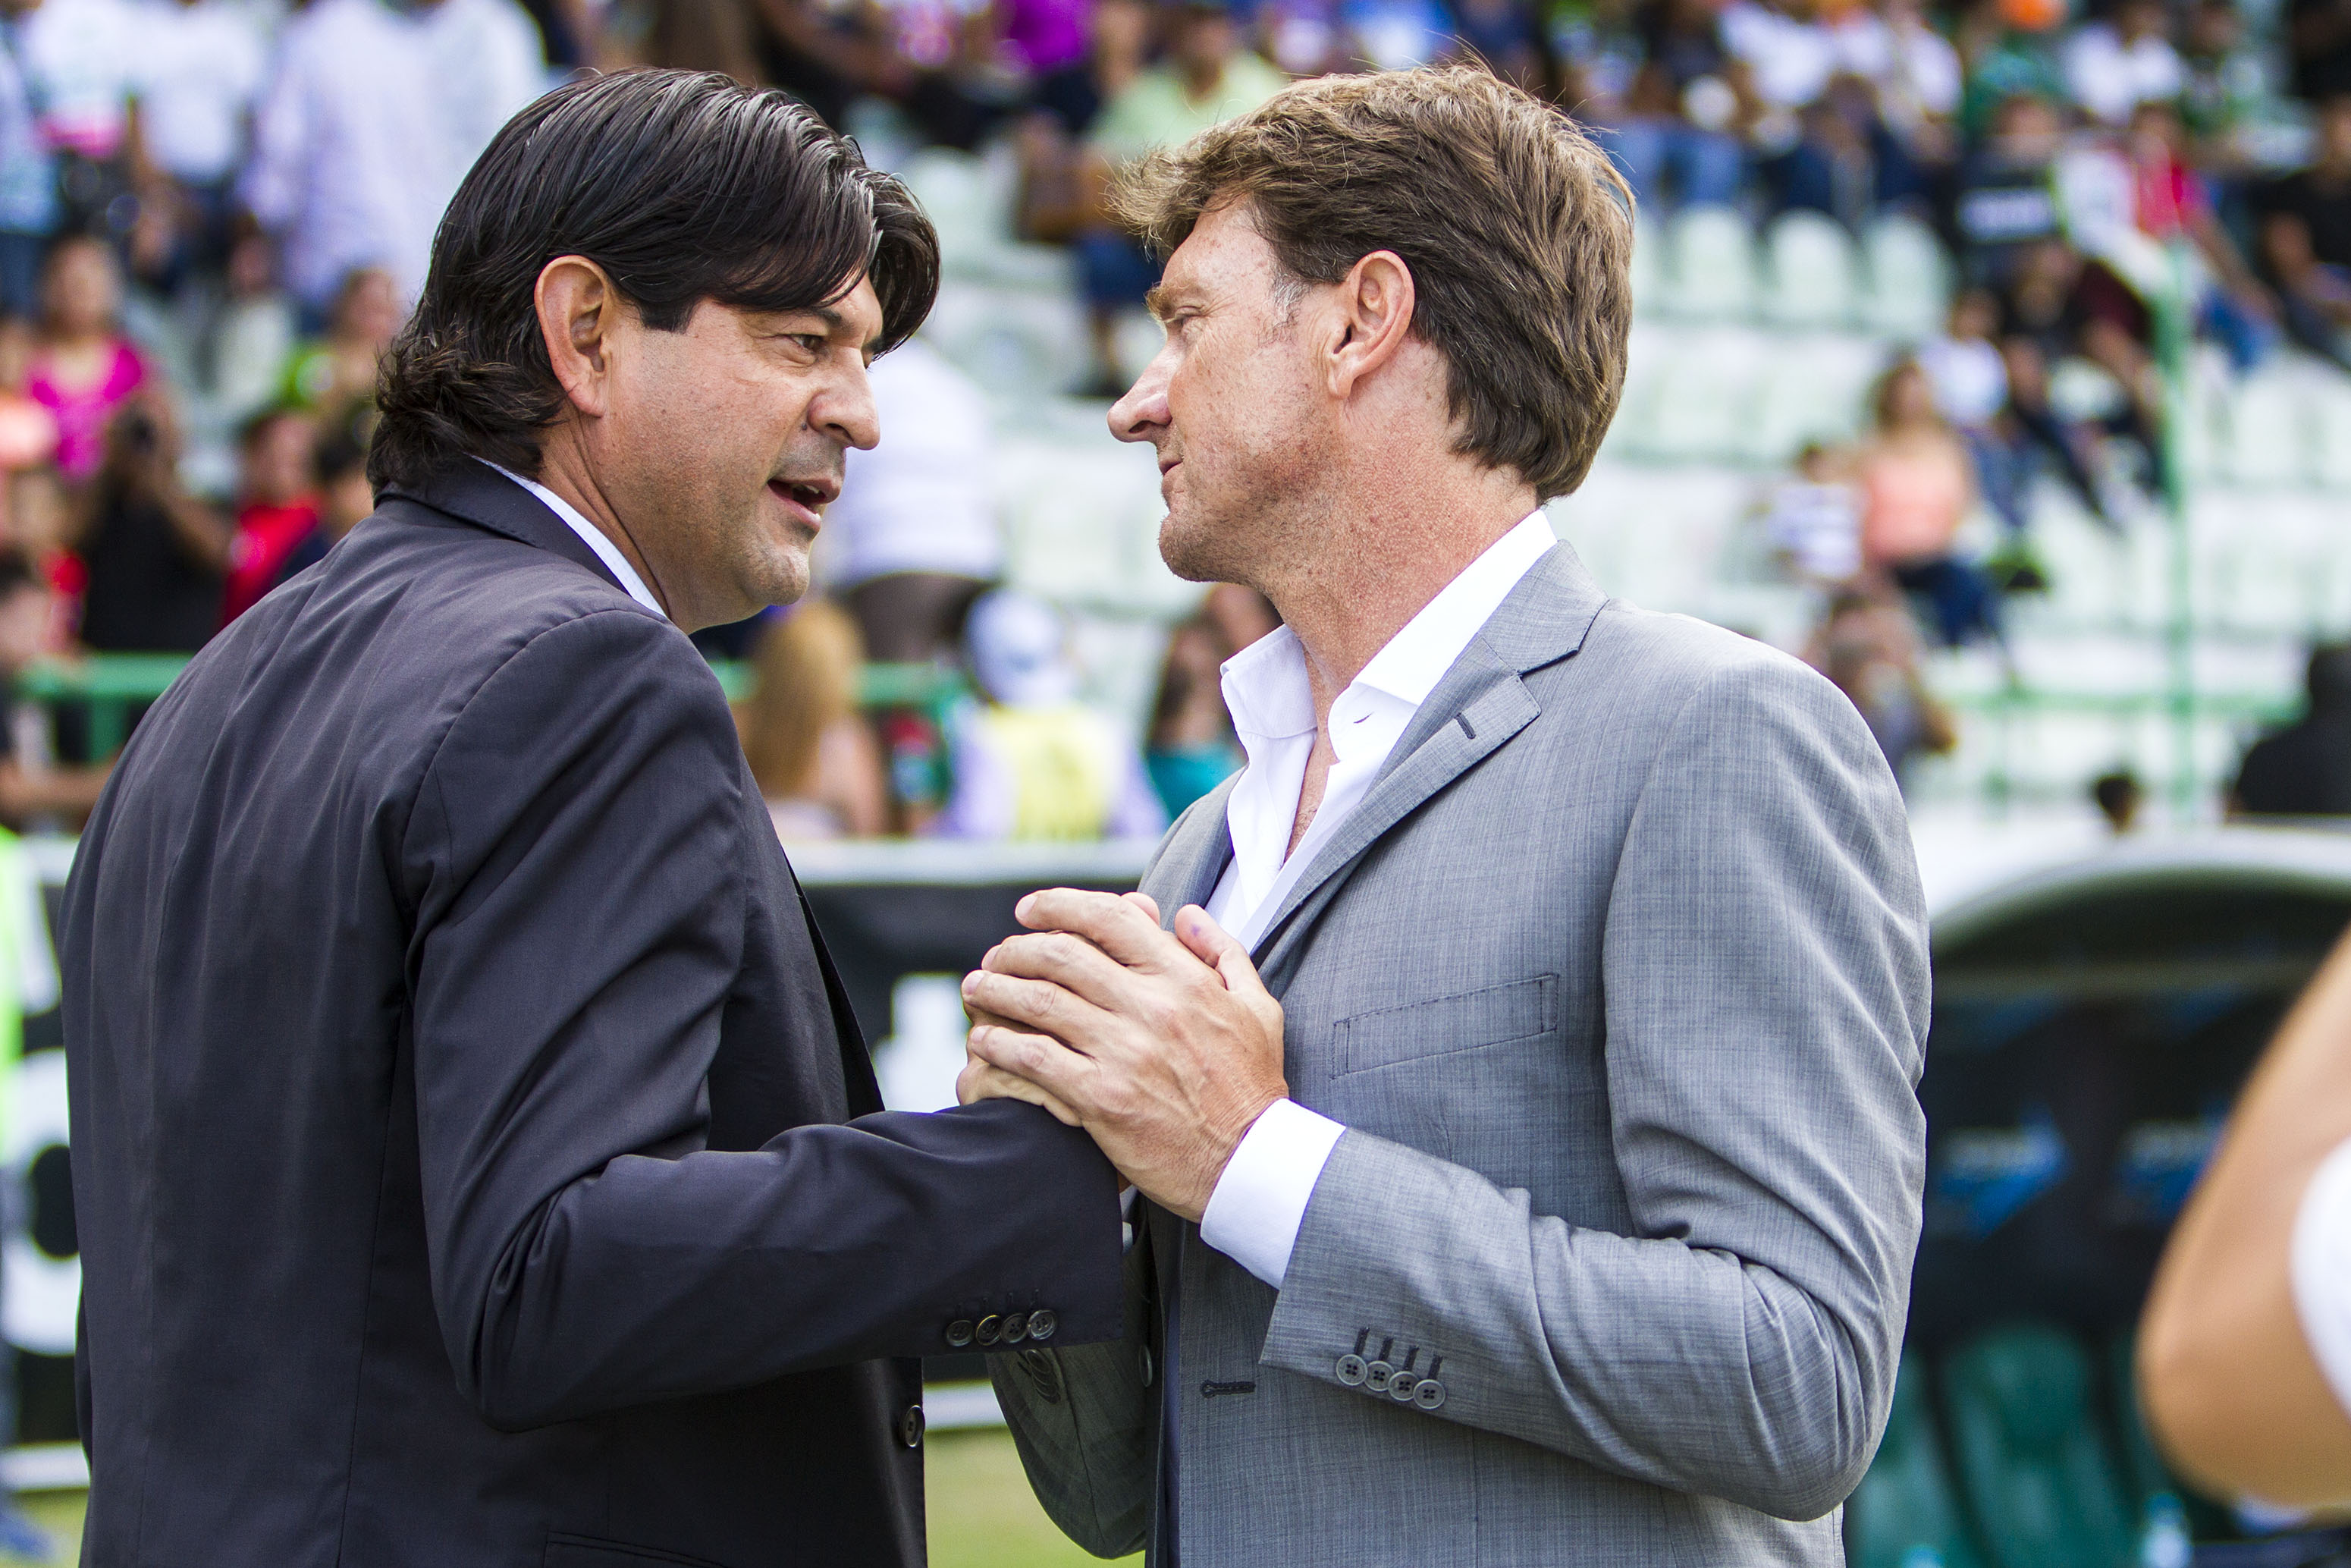
<svg viewBox="0 0 2351 1568"><path fill-rule="evenodd" d="M955 792L931 825L950 839L1154 839L1166 811L1143 757L1077 701L1070 630L1018 592L971 607L964 637L983 701L955 726Z"/></svg>

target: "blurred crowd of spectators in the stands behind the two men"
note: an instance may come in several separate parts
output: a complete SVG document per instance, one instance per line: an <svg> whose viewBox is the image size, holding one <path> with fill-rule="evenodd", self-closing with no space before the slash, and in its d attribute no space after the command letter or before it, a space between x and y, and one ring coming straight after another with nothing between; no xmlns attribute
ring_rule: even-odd
<svg viewBox="0 0 2351 1568"><path fill-rule="evenodd" d="M1961 289L1766 512L1824 592L1813 656L1897 762L1949 745L1930 642L1998 637L2038 567L2034 475L2125 527L2163 484L2165 301L2241 369L2351 367L2351 0L0 0L0 637L33 661L186 654L369 510L376 357L496 127L578 68L773 82L877 146L1009 148L1013 230L1072 252L1079 393L1124 386L1157 277L1121 162L1295 75L1474 56L1596 129L1646 233L1690 207L1930 223ZM2052 388L2092 367L2097 395ZM1147 835L1239 762L1176 628L1140 741L1079 701L1070 628L997 590L987 400L915 346L858 454L828 599L705 637L757 672L745 738L792 835ZM2010 531L1965 555L1982 503ZM1923 614L1900 614L1909 599ZM868 665L952 670L875 698ZM103 764L0 726L0 818L71 818Z"/></svg>

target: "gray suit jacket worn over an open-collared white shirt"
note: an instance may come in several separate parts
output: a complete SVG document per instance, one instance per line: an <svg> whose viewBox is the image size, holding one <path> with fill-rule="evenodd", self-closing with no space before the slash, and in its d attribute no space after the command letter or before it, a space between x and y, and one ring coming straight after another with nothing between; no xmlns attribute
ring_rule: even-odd
<svg viewBox="0 0 2351 1568"><path fill-rule="evenodd" d="M1168 914L1227 792L1145 877ZM1291 1093L1349 1128L1284 1288L1147 1208L1128 1340L994 1361L1037 1495L1161 1568L1841 1563L1918 1241L1925 936L1853 705L1552 550L1255 952Z"/></svg>

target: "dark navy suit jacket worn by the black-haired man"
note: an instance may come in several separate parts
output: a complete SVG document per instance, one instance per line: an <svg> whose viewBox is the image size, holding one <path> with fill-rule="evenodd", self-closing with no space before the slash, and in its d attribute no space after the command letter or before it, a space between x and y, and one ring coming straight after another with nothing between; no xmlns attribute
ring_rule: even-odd
<svg viewBox="0 0 2351 1568"><path fill-rule="evenodd" d="M468 458L146 715L66 891L92 1568L919 1563L919 1361L1117 1180L886 1114L684 632Z"/></svg>

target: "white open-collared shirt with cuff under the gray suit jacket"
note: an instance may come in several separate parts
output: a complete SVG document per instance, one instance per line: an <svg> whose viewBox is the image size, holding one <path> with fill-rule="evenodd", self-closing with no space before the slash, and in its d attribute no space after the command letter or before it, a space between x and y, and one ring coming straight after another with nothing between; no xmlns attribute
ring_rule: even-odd
<svg viewBox="0 0 2351 1568"><path fill-rule="evenodd" d="M1225 708L1248 766L1225 802L1232 860L1208 896L1208 914L1244 947L1265 926L1317 851L1364 804L1371 780L1396 750L1420 703L1502 607L1519 578L1559 543L1542 512L1528 515L1446 583L1404 623L1364 672L1331 703L1331 773L1321 806L1291 851L1307 757L1314 752L1314 693L1305 649L1281 628L1225 661ZM1307 1199L1347 1128L1295 1100L1274 1100L1241 1138L1199 1220L1199 1237L1265 1284L1281 1288Z"/></svg>

